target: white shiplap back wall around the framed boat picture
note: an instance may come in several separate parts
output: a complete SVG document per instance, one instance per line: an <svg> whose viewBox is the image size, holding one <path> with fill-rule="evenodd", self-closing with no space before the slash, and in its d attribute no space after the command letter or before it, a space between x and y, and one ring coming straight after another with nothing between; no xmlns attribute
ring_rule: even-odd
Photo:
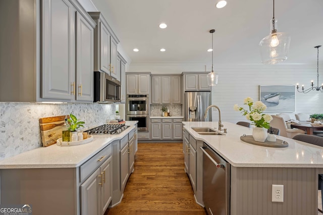
<svg viewBox="0 0 323 215"><path fill-rule="evenodd" d="M322 67L322 65L319 65ZM209 70L206 65L199 63L178 62L137 62L132 63L129 72L145 72L151 74L181 74L183 71ZM316 85L316 64L311 65L220 65L214 66L214 71L219 73L219 83L212 87L212 104L220 107L222 121L236 123L246 121L241 113L233 110L234 104L243 105L243 99L252 97L259 100L259 85L296 85L304 84L309 87L310 81ZM323 72L320 83L323 83ZM295 113L321 113L323 109L323 93L310 92L307 94L296 92L295 87L295 111L288 114L295 118ZM218 120L218 113L213 110L213 121ZM268 114L277 114L271 112Z"/></svg>

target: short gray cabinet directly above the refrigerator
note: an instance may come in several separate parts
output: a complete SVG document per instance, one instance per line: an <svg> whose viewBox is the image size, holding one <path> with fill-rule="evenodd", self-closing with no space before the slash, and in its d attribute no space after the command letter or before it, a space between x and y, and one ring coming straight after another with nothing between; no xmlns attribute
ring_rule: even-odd
<svg viewBox="0 0 323 215"><path fill-rule="evenodd" d="M185 91L209 91L207 74L185 74Z"/></svg>

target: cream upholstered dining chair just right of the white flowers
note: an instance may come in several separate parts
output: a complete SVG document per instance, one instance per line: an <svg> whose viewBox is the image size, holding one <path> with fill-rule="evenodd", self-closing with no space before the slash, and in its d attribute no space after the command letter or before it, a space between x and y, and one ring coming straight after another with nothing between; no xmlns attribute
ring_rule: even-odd
<svg viewBox="0 0 323 215"><path fill-rule="evenodd" d="M287 128L286 122L283 117L272 115L273 120L270 122L270 125L274 128L280 129L280 135L293 138L297 134L304 134L305 131L297 128Z"/></svg>

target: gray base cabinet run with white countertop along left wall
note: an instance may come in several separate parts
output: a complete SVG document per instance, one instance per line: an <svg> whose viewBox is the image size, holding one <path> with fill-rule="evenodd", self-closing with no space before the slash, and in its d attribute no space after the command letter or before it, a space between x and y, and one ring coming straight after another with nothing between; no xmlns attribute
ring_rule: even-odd
<svg viewBox="0 0 323 215"><path fill-rule="evenodd" d="M1 204L29 204L36 215L103 214L121 201L133 172L137 121L126 125L84 145L52 145L1 161Z"/></svg>

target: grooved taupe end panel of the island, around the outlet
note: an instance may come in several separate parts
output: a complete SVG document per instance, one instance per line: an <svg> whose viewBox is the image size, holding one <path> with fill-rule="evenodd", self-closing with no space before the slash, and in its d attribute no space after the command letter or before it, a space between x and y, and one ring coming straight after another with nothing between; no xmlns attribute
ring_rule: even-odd
<svg viewBox="0 0 323 215"><path fill-rule="evenodd" d="M231 215L317 214L317 169L231 167ZM272 202L272 185L284 202Z"/></svg>

